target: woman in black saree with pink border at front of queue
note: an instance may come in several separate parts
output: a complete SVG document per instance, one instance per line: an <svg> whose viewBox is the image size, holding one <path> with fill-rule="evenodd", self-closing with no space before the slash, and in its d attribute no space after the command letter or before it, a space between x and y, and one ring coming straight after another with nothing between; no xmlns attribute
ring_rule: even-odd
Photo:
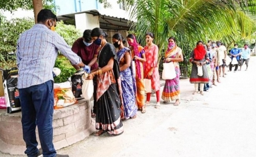
<svg viewBox="0 0 256 157"><path fill-rule="evenodd" d="M94 28L91 37L101 47L98 53L98 69L93 70L87 79L97 77L96 95L96 136L104 132L109 135L123 133L121 121L122 89L120 71L115 47L106 41L108 35L100 28Z"/></svg>

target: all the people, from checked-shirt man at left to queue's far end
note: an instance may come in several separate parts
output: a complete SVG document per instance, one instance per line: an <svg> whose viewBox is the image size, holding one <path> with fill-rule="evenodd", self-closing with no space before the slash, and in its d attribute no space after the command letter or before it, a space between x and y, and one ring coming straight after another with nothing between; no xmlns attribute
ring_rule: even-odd
<svg viewBox="0 0 256 157"><path fill-rule="evenodd" d="M93 79L94 107L91 116L96 118L98 131L95 136L103 133L108 133L109 136L121 135L124 132L122 120L136 118L138 110L146 113L146 105L150 104L150 92L145 92L143 79L151 80L149 86L156 92L155 108L160 107L158 46L153 42L153 33L145 34L145 47L140 46L135 36L129 34L126 40L130 47L125 47L126 40L119 33L113 35L111 44L106 40L108 34L102 29L87 29L71 49L62 37L52 31L56 27L56 21L56 15L52 11L42 9L37 15L38 23L22 33L17 42L22 131L26 143L25 153L28 156L43 154L48 157L69 157L57 154L52 142L52 69L58 50L70 60L75 69L82 68L86 71L89 74L87 79ZM236 48L235 46L232 50L232 57L241 55L241 66L245 62L248 68L248 45L241 52ZM221 42L217 42L217 45L208 42L206 46L202 41L197 42L189 59L192 63L189 81L195 84L193 94L200 91L204 95L205 84L210 88L216 85L215 79L220 82L219 77L225 77L226 57L226 47ZM173 63L176 77L165 80L161 98L164 103L175 101L174 106L180 104L178 62L182 61L182 49L176 45L176 39L170 37L163 62ZM36 126L41 150L37 149Z"/></svg>

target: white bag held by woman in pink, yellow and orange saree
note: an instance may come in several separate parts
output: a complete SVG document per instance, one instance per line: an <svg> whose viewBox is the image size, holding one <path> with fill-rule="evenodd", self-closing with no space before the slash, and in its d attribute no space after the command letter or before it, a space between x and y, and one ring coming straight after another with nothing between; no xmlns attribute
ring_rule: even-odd
<svg viewBox="0 0 256 157"><path fill-rule="evenodd" d="M173 62L163 63L162 79L171 80L176 77L175 68Z"/></svg>

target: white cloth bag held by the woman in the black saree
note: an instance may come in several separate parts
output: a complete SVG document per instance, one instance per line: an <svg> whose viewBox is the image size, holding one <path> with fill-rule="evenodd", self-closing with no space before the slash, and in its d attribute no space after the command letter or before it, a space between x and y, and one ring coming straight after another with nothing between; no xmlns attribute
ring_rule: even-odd
<svg viewBox="0 0 256 157"><path fill-rule="evenodd" d="M83 75L82 95L85 100L90 100L93 97L93 80L87 80L87 75Z"/></svg>

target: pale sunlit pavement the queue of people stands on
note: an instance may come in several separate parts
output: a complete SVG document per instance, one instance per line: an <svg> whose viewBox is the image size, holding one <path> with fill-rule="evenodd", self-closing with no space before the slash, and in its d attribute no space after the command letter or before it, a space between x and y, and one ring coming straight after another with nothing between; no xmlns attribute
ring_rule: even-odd
<svg viewBox="0 0 256 157"><path fill-rule="evenodd" d="M152 96L147 113L138 112L136 119L123 122L122 135L91 135L58 153L70 157L255 157L255 71L256 57L251 57L248 71L243 66L242 71L226 72L226 78L221 77L221 83L203 96L192 95L193 84L180 80L179 106L161 101L156 109ZM11 155L0 153L0 157Z"/></svg>

